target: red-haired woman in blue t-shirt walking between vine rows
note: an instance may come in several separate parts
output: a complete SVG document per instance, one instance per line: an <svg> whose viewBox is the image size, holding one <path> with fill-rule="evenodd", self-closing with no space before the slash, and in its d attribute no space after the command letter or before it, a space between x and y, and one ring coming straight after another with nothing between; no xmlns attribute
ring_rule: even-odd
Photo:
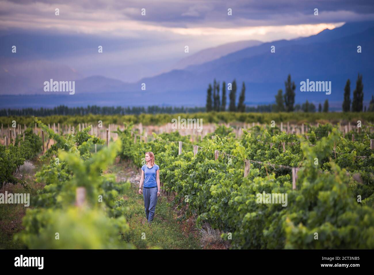
<svg viewBox="0 0 374 275"><path fill-rule="evenodd" d="M141 167L141 178L139 184L139 194L143 194L145 216L149 223L152 222L154 217L154 210L156 209L157 197L160 195L160 167L154 164L154 154L152 152L145 153L145 162ZM144 183L143 191L141 186Z"/></svg>

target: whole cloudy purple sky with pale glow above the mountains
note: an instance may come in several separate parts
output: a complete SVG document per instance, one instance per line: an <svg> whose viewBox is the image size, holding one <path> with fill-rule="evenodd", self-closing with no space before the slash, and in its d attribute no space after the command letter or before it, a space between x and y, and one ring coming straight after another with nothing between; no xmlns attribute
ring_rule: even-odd
<svg viewBox="0 0 374 275"><path fill-rule="evenodd" d="M374 20L373 0L0 1L0 34L36 37L34 46L43 47L34 52L37 58L84 76L129 82L172 68L186 57L186 45L193 54L234 41L291 39L367 20ZM38 45L38 37L46 36L53 37L50 43Z"/></svg>

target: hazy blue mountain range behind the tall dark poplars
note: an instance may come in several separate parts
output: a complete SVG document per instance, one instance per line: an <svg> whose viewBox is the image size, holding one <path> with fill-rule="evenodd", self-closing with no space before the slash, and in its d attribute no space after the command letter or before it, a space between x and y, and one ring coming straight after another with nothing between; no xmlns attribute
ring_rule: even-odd
<svg viewBox="0 0 374 275"><path fill-rule="evenodd" d="M275 52L272 53L272 46ZM361 46L361 53L357 48ZM66 65L43 59L3 56L0 63L0 108L86 105L172 105L205 106L206 90L214 78L226 84L236 79L237 96L242 83L246 104L274 102L291 74L296 85L296 102L343 100L344 86L351 81L351 96L358 73L363 75L364 101L374 95L374 21L351 22L310 37L269 43L240 41L205 49L175 64L176 69L126 83L100 75L84 77ZM43 83L76 81L75 94L44 92ZM300 92L300 82L331 81L331 94ZM142 90L144 87L145 90ZM227 89L226 89L227 90ZM37 101L31 98L35 95ZM6 95L6 96L5 96ZM39 105L38 105L39 104Z"/></svg>

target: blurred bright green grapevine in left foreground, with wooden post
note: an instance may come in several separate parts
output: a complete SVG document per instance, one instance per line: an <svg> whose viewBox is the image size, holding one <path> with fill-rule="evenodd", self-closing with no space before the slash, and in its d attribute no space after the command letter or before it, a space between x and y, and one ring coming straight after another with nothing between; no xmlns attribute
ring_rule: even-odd
<svg viewBox="0 0 374 275"><path fill-rule="evenodd" d="M123 217L124 201L117 200L130 183L117 183L113 175L102 175L121 148L120 140L91 155L88 148L101 141L88 135L89 127L65 139L40 126L56 140L50 152L57 158L51 158L36 174L36 181L45 187L32 198L34 208L27 210L25 229L15 240L31 249L131 248L120 237L128 225ZM76 207L79 187L85 189L85 203Z"/></svg>

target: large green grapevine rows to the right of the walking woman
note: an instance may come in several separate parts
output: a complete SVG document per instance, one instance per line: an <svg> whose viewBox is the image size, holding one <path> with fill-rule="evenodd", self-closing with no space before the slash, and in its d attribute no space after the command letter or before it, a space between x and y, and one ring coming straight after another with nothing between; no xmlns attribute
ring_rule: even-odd
<svg viewBox="0 0 374 275"><path fill-rule="evenodd" d="M362 135L369 135L365 130ZM157 135L151 142L132 144L136 152L154 152L163 188L174 193L170 204L184 210L181 219L196 217L198 226L208 222L225 232L223 237L232 233L232 248L374 248L374 154L368 141L343 139L331 124L309 127L309 140L276 128L256 126L244 130L240 139L230 131L219 127L218 135L206 139L196 156L184 144L178 155L177 142ZM341 155L336 158L334 145ZM229 155L221 153L214 160L215 150ZM134 157L140 167L140 159ZM245 159L254 161L243 178ZM296 190L285 166L301 167ZM355 173L368 183L357 182ZM257 194L263 192L287 194L287 206L259 204Z"/></svg>

